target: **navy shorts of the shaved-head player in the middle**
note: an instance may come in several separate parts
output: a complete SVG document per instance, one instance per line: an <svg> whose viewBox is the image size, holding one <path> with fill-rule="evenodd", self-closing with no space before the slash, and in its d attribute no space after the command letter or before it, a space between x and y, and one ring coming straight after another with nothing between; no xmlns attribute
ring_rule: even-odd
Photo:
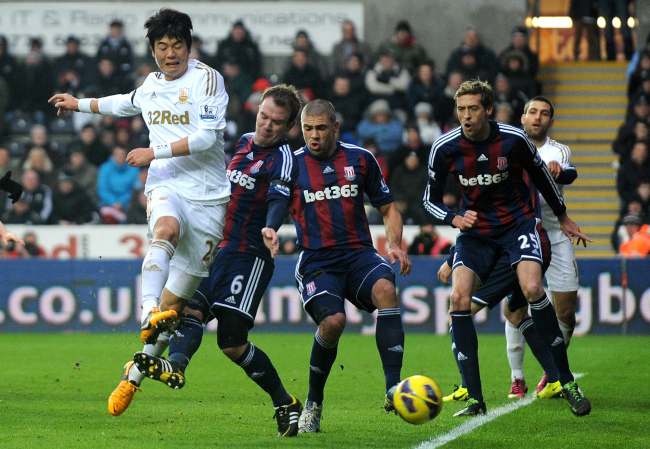
<svg viewBox="0 0 650 449"><path fill-rule="evenodd" d="M395 272L374 248L303 250L296 266L296 283L310 316L312 303L328 297L338 298L339 312L345 313L344 299L373 312L372 287L379 279L395 284Z"/></svg>

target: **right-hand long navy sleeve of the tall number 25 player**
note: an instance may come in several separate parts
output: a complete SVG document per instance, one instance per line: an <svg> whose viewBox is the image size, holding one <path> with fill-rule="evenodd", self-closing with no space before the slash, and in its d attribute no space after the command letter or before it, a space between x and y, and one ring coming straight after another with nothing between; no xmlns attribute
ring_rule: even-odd
<svg viewBox="0 0 650 449"><path fill-rule="evenodd" d="M546 168L535 145L523 136L517 136L519 141L515 144L516 151L521 158L521 163L535 187L540 191L546 203L553 210L555 216L566 212L564 198L555 184L555 180Z"/></svg>

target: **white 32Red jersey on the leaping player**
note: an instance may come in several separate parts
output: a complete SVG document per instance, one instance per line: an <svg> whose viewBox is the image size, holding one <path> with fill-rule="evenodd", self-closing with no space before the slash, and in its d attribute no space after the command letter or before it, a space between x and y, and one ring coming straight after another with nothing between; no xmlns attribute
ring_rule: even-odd
<svg viewBox="0 0 650 449"><path fill-rule="evenodd" d="M219 72L190 59L182 77L166 81L162 73L150 73L142 86L130 94L113 98L112 115L124 117L142 113L149 128L151 146L175 142L199 129L217 133L217 141L205 151L151 161L146 192L165 185L172 186L188 200L220 202L228 199L230 182L226 178L223 148L228 94Z"/></svg>

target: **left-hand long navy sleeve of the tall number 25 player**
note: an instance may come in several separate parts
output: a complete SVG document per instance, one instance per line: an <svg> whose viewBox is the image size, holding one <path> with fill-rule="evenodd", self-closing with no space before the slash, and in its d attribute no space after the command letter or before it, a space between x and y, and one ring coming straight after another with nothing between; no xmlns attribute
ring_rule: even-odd
<svg viewBox="0 0 650 449"><path fill-rule="evenodd" d="M424 208L438 220L451 225L456 213L442 200L445 183L449 175L449 165L442 144L433 143L429 155L429 182L424 190Z"/></svg>

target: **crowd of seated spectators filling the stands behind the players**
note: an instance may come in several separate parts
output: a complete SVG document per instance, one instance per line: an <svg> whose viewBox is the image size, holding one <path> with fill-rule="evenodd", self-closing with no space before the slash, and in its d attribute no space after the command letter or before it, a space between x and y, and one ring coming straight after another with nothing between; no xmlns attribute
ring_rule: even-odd
<svg viewBox="0 0 650 449"><path fill-rule="evenodd" d="M146 168L125 163L128 151L149 145L142 118L57 117L47 103L58 92L79 98L126 93L157 71L150 55L133 53L123 26L113 21L94 55L81 52L79 39L70 35L65 53L56 58L43 52L39 38L30 40L25 58L16 58L0 35L0 176L11 170L25 190L13 205L0 196L4 223L146 223ZM232 156L242 133L254 129L264 89L292 84L305 103L323 98L334 105L341 140L375 153L405 224L430 224L421 191L411 186L418 179L425 185L432 142L458 124L454 94L460 84L473 78L490 82L496 94L493 118L514 126L521 125L526 101L541 93L536 81L539 59L528 44L528 30L513 29L509 45L497 53L481 41L477 29L468 28L444 66L427 54L405 20L376 49L360 39L354 23L343 22L340 31L340 41L326 57L308 31L299 30L281 73L264 73L264 55L241 21L218 43L215 54L206 53L202 39L194 36L191 57L219 70L226 82L227 155ZM628 90L628 119L614 142L621 156L621 223L628 212L638 213L645 223L650 201L650 42L632 57ZM288 137L294 150L304 145L299 123ZM640 158L645 162L638 162ZM448 185L445 201L458 209L460 193L454 183ZM381 223L372 208L368 212L371 223Z"/></svg>

